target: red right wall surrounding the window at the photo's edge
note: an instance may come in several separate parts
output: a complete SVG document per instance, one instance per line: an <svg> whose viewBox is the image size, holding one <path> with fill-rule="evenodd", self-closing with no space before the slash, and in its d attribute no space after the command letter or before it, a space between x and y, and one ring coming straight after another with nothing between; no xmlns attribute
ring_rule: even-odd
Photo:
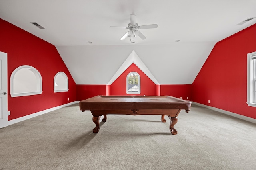
<svg viewBox="0 0 256 170"><path fill-rule="evenodd" d="M192 84L192 100L256 119L256 107L246 104L247 53L256 51L255 40L256 24L216 43Z"/></svg>

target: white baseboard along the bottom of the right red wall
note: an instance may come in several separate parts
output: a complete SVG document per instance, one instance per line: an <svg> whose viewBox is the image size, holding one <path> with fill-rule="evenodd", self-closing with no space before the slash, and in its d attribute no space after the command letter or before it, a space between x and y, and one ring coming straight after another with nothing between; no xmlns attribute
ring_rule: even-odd
<svg viewBox="0 0 256 170"><path fill-rule="evenodd" d="M198 106L202 106L202 107L205 107L205 108L208 108L208 109L211 109L211 110L214 110L214 111L218 111L220 113L224 113L226 115L230 115L230 116L236 117L238 119L242 119L242 120L249 121L249 122L252 122L252 123L256 124L256 119L253 119L251 117L246 117L246 116L239 115L239 114L236 114L236 113L233 113L233 112L230 112L230 111L218 109L216 107L207 106L207 105L196 103L196 102L192 102L192 104L195 104L195 105L198 105Z"/></svg>

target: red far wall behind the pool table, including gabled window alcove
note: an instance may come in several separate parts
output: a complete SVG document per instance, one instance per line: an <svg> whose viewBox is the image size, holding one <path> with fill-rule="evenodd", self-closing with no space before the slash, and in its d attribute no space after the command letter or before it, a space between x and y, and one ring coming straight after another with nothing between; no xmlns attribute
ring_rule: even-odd
<svg viewBox="0 0 256 170"><path fill-rule="evenodd" d="M141 93L126 94L126 77L130 72L140 74ZM97 95L170 95L182 99L191 98L191 84L156 85L134 63L131 64L111 85L76 85L77 100Z"/></svg>

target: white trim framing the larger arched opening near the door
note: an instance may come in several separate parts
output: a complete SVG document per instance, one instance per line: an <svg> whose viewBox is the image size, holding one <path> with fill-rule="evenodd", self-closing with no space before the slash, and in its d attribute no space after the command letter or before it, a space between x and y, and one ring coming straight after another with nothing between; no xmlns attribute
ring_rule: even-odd
<svg viewBox="0 0 256 170"><path fill-rule="evenodd" d="M15 93L14 94L14 76L15 74L22 68L29 68L36 76L36 92L26 92L26 93ZM23 65L23 66L19 66L18 68L16 68L12 74L11 74L11 79L10 79L10 92L11 92L11 96L12 97L19 97L19 96L30 96L30 95L36 95L36 94L42 94L42 76L40 74L40 72L38 72L38 70L36 70L36 68L32 67L32 66L28 66L28 65Z"/></svg>

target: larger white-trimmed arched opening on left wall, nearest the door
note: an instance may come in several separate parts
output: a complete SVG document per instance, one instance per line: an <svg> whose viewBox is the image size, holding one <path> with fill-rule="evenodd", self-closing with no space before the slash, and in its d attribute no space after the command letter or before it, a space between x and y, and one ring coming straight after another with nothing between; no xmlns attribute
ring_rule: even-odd
<svg viewBox="0 0 256 170"><path fill-rule="evenodd" d="M32 66L20 66L12 72L10 86L12 97L42 94L42 76Z"/></svg>

